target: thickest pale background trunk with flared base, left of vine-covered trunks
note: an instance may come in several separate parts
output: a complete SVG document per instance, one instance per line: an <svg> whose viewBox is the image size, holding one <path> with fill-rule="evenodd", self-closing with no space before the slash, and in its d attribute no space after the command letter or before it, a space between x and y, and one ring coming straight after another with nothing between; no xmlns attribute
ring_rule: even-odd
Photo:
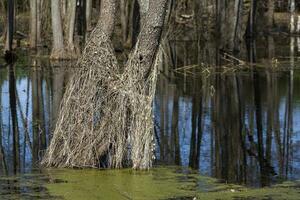
<svg viewBox="0 0 300 200"><path fill-rule="evenodd" d="M51 0L53 45L51 59L64 59L64 38L60 12L60 0Z"/></svg>

